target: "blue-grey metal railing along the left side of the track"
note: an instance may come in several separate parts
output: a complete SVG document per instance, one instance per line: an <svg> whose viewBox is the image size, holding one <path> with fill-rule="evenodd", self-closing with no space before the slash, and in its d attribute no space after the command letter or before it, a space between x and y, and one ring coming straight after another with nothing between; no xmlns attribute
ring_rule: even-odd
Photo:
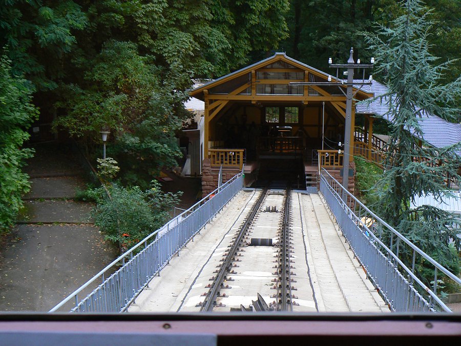
<svg viewBox="0 0 461 346"><path fill-rule="evenodd" d="M194 206L167 222L162 228L141 240L136 246L120 255L79 289L62 300L49 312L56 312L74 301L71 312L123 312L138 294L188 241L219 212L243 187L243 174L239 173L218 189L208 194ZM134 254L136 250L143 249ZM118 263L122 267L115 273ZM101 283L81 301L82 291Z"/></svg>

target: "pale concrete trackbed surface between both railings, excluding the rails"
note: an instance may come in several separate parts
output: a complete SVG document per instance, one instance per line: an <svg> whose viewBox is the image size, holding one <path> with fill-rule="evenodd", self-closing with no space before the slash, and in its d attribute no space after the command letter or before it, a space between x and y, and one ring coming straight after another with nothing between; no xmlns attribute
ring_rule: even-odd
<svg viewBox="0 0 461 346"><path fill-rule="evenodd" d="M249 214L260 192L240 192L206 229L181 250L155 277L132 304L129 312L198 312L196 305L204 300L202 294L216 275L228 245ZM290 264L296 275L292 291L296 295L295 312L381 312L388 311L379 294L366 279L365 273L351 250L344 245L344 237L325 208L319 195L292 193L291 195ZM268 195L261 205L250 234L251 238L279 240L278 229L282 214L264 212L266 206L282 208L282 195ZM277 247L241 249L236 257L234 273L228 274L217 302L225 307L215 308L227 312L231 308L246 308L261 294L269 304L276 300L272 289L277 275ZM230 279L233 280L230 280ZM224 296L225 294L225 296Z"/></svg>

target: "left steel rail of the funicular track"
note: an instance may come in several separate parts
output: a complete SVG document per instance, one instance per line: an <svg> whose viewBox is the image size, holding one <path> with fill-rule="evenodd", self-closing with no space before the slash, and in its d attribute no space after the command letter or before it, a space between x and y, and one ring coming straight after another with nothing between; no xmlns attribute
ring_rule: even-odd
<svg viewBox="0 0 461 346"><path fill-rule="evenodd" d="M200 312L204 311L212 311L214 308L214 302L217 298L218 291L221 288L221 283L224 282L224 277L226 276L227 269L231 265L231 262L234 260L234 256L237 253L237 249L241 246L240 242L243 239L243 235L245 232L248 230L248 227L250 226L251 222L253 221L256 213L259 211L259 208L261 206L261 202L264 200L264 197L267 194L267 189L264 189L261 194L259 195L258 199L256 200L252 212L248 215L246 218L245 222L243 223L242 227L240 228L239 234L234 242L234 245L232 246L231 250L227 253L227 256L219 269L218 274L215 276L215 279L211 285L211 289L209 290L208 294L205 296L205 299L203 301L203 304L200 308Z"/></svg>

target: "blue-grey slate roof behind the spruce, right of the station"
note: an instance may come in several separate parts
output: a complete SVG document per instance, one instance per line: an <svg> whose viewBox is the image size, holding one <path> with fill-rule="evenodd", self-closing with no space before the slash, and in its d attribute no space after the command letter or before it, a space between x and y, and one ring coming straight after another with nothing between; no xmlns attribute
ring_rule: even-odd
<svg viewBox="0 0 461 346"><path fill-rule="evenodd" d="M387 87L376 82L376 80L373 80L371 86L364 86L362 89L367 92L373 92L374 96L380 96L387 92ZM355 112L381 115L384 119L392 122L392 117L385 115L389 110L387 105L388 100L389 98L386 97L382 101L376 99L369 105L359 103L355 107ZM450 123L432 114L424 114L418 121L424 133L423 139L435 148L442 148L461 142L461 124ZM461 152L458 151L458 154L461 154Z"/></svg>

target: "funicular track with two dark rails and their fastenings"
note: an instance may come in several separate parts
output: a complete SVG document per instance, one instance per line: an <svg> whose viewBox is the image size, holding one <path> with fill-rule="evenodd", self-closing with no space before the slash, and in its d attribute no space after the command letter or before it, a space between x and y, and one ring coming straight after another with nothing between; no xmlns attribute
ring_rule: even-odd
<svg viewBox="0 0 461 346"><path fill-rule="evenodd" d="M276 206L267 206L267 203L265 203L266 198L271 194L283 194L283 202L280 208L281 210L277 210ZM292 299L295 297L292 294L292 290L295 289L292 286L292 282L296 282L296 280L291 278L291 275L295 274L292 272L294 266L292 266L290 259L292 252L292 246L290 244L290 195L290 190L285 190L283 192L280 190L273 192L267 188L262 190L255 201L251 212L240 226L240 229L234 237L231 245L228 246L228 251L224 253L223 258L221 259L222 264L220 264L215 270L215 275L210 278L212 282L207 285L209 290L208 292L202 294L202 296L204 296L204 300L198 304L200 311L209 312L213 311L215 308L223 307L222 303L217 302L218 298L229 296L229 294L226 295L223 291L229 291L227 289L232 288L232 286L229 285L229 282L232 283L232 281L234 281L231 275L236 273L235 268L238 267L238 263L242 261L242 258L245 260L251 260L251 258L247 258L249 255L243 254L245 252L244 248L249 245L269 245L279 248L277 250L277 255L275 256L277 259L274 260L276 264L273 267L275 268L273 275L276 275L277 277L272 280L275 282L273 288L277 293L271 295L273 302L268 305L262 296L255 292L258 298L256 301L253 300L253 309L256 311L292 311L293 304L296 304ZM264 205L266 205L265 210L263 210ZM272 243L273 239L251 238L250 240L249 238L250 235L255 235L253 234L255 229L263 227L260 226L261 222L259 219L261 214L264 212L276 212L280 215L277 223L277 240L274 245ZM262 219L264 219L264 217L262 217ZM248 311L248 309L244 307L244 304L240 304L240 306L242 311Z"/></svg>

